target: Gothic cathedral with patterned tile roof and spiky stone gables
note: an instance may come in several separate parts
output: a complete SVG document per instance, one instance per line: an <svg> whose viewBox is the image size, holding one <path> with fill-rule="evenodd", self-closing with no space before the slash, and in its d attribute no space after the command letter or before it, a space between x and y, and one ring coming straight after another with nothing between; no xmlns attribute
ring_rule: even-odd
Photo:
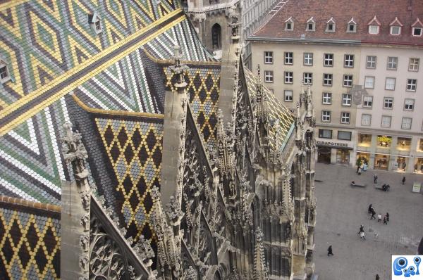
<svg viewBox="0 0 423 280"><path fill-rule="evenodd" d="M178 1L0 4L0 279L309 279L314 108ZM27 16L21 16L27 15Z"/></svg>

